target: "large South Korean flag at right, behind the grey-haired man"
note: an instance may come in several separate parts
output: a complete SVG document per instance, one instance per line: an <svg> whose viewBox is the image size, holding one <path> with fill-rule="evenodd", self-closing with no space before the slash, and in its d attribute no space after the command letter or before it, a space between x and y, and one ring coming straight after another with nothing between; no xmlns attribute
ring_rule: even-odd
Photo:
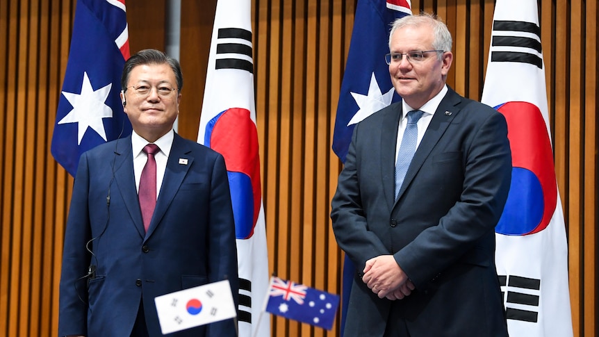
<svg viewBox="0 0 599 337"><path fill-rule="evenodd" d="M512 151L511 187L495 228L509 336L573 336L536 1L495 3L482 102L505 116Z"/></svg>

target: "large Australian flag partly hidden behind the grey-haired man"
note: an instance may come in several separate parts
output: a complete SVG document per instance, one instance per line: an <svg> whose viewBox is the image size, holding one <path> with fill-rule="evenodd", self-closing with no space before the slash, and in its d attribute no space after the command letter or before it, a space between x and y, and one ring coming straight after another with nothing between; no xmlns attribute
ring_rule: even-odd
<svg viewBox="0 0 599 337"><path fill-rule="evenodd" d="M385 54L389 52L391 24L395 19L411 13L410 0L358 0L333 135L333 151L343 163L352 140L354 124L400 100L391 84ZM354 266L346 256L343 268L341 336L353 274Z"/></svg>

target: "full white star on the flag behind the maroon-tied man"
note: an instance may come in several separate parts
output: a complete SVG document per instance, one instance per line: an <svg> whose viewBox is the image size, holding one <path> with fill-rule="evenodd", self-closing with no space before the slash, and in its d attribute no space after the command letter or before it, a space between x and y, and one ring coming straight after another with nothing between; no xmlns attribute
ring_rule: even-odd
<svg viewBox="0 0 599 337"><path fill-rule="evenodd" d="M77 145L81 145L81 140L88 127L94 129L105 141L106 130L102 118L113 117L113 109L106 105L106 99L110 94L110 88L113 83L109 83L103 88L94 90L87 72L83 72L83 83L81 83L81 94L63 91L66 99L69 101L73 110L70 110L58 124L79 123L77 132Z"/></svg>

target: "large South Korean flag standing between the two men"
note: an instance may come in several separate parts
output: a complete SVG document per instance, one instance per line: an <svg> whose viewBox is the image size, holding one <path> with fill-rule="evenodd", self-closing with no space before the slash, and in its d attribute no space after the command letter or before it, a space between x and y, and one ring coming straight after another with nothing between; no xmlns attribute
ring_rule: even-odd
<svg viewBox="0 0 599 337"><path fill-rule="evenodd" d="M231 188L239 274L241 337L270 336L261 315L268 252L254 101L252 1L218 0L197 142L224 156Z"/></svg>

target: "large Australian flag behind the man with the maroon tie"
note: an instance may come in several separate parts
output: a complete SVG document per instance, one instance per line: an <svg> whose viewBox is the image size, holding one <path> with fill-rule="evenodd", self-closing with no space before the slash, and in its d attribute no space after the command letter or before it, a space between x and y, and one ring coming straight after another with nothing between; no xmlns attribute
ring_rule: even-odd
<svg viewBox="0 0 599 337"><path fill-rule="evenodd" d="M83 152L131 133L119 95L129 56L125 1L77 1L51 145L72 176Z"/></svg>

